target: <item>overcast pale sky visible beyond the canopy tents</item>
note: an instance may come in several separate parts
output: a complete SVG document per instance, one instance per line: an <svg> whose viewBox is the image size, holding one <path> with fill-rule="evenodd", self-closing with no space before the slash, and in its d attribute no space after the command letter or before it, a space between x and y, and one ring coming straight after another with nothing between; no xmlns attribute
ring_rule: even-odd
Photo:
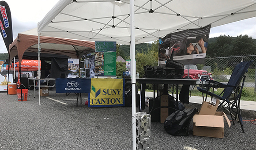
<svg viewBox="0 0 256 150"><path fill-rule="evenodd" d="M11 9L13 38L18 33L37 27L37 23L59 0L4 0ZM256 17L211 28L210 38L220 35L236 37L240 34L256 38ZM0 53L8 53L0 38Z"/></svg>

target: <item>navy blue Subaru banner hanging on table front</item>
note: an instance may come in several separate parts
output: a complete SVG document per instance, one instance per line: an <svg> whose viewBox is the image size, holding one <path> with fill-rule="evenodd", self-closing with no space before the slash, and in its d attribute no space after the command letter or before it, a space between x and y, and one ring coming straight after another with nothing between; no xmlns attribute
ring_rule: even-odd
<svg viewBox="0 0 256 150"><path fill-rule="evenodd" d="M56 93L90 93L90 79L57 78Z"/></svg>

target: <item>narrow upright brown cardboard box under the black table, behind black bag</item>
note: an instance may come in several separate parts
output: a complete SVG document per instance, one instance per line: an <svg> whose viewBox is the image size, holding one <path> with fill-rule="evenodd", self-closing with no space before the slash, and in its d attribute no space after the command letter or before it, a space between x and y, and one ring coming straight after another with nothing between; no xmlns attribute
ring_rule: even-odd
<svg viewBox="0 0 256 150"><path fill-rule="evenodd" d="M160 106L168 106L168 95L164 94L161 97ZM163 124L166 118L169 116L168 108L160 109L160 122Z"/></svg>

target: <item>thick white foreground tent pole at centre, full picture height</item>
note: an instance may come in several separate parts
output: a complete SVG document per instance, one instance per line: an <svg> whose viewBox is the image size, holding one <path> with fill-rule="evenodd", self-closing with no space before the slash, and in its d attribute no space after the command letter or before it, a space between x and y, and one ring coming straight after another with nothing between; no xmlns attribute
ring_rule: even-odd
<svg viewBox="0 0 256 150"><path fill-rule="evenodd" d="M135 34L134 34L134 0L130 0L130 30L131 30L131 45L130 53L132 53L132 150L136 150L136 62L135 62Z"/></svg>

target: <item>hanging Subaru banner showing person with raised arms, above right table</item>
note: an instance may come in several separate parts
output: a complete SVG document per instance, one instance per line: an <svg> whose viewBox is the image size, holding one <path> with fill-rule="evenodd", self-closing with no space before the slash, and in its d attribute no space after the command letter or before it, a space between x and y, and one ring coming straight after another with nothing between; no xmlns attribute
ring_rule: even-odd
<svg viewBox="0 0 256 150"><path fill-rule="evenodd" d="M188 29L167 34L159 38L158 64L175 60L182 64L202 64L204 62L211 25L200 29ZM173 55L172 55L173 53Z"/></svg>

